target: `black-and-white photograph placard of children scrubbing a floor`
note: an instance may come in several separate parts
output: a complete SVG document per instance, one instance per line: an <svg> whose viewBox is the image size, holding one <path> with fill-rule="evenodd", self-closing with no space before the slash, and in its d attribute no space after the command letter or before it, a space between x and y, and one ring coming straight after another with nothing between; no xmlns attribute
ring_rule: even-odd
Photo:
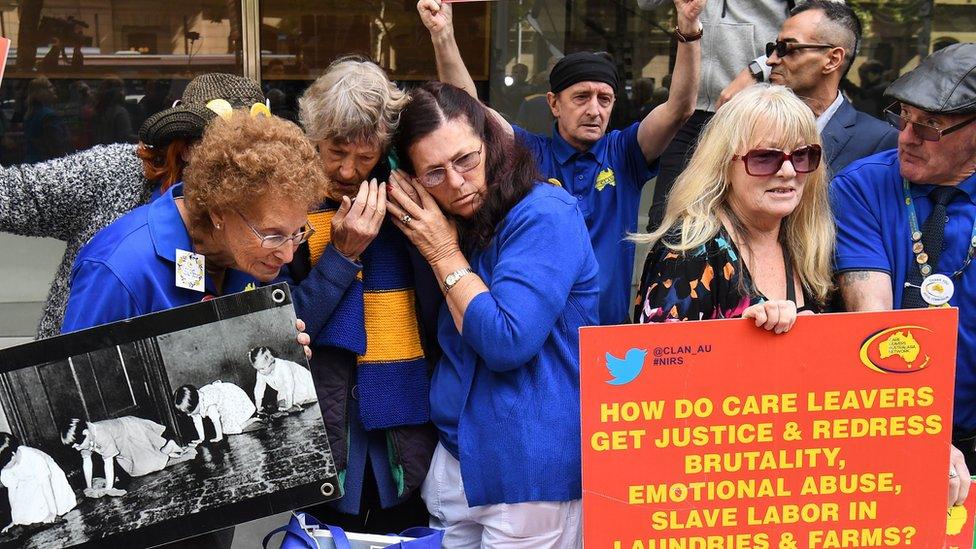
<svg viewBox="0 0 976 549"><path fill-rule="evenodd" d="M0 351L0 545L153 546L339 497L287 286Z"/></svg>

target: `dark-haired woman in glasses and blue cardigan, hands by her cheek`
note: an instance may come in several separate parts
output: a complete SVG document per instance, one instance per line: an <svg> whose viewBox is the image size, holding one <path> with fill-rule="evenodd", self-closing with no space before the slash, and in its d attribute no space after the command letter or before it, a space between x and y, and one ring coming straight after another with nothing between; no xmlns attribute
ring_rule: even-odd
<svg viewBox="0 0 976 549"><path fill-rule="evenodd" d="M579 328L598 268L576 199L464 91L411 92L388 211L441 283L439 443L422 495L445 547L579 547Z"/></svg>

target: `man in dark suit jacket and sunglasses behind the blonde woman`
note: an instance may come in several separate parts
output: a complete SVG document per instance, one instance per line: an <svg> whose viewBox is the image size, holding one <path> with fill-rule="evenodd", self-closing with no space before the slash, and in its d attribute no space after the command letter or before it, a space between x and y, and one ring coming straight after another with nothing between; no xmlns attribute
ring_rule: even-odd
<svg viewBox="0 0 976 549"><path fill-rule="evenodd" d="M776 41L766 45L766 64L772 69L769 82L790 88L813 110L831 174L898 143L898 132L854 109L840 93L840 82L860 40L861 22L850 6L843 1L809 0L790 12ZM743 71L723 92L719 104L736 88L752 84L751 74Z"/></svg>

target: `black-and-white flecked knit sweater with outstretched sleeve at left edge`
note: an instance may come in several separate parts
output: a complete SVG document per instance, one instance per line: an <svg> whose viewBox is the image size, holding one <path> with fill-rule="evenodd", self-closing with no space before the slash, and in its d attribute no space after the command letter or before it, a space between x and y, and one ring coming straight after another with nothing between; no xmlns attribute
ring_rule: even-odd
<svg viewBox="0 0 976 549"><path fill-rule="evenodd" d="M38 337L61 332L78 250L100 229L149 200L152 184L135 152L135 145L105 145L0 168L0 231L67 243L44 303Z"/></svg>

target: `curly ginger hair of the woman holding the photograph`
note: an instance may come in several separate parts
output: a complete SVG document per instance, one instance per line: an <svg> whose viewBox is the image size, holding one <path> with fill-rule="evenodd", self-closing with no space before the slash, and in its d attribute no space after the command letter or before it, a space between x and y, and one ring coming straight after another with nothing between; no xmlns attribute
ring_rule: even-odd
<svg viewBox="0 0 976 549"><path fill-rule="evenodd" d="M328 179L315 147L295 124L234 111L207 126L184 172L190 221L210 228L210 212L244 210L271 198L311 208Z"/></svg>

